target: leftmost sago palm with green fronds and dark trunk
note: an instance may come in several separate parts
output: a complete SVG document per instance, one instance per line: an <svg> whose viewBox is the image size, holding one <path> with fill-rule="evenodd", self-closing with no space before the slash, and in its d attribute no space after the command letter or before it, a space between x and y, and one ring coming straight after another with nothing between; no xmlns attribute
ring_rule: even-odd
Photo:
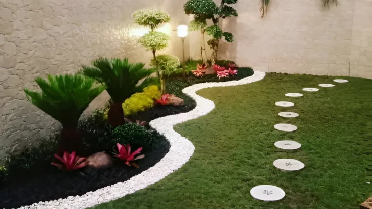
<svg viewBox="0 0 372 209"><path fill-rule="evenodd" d="M26 97L36 107L52 116L62 124L58 155L65 151L84 154L78 120L90 102L105 87L95 85L95 81L84 75L48 75L48 80L37 77L41 93L24 89Z"/></svg>

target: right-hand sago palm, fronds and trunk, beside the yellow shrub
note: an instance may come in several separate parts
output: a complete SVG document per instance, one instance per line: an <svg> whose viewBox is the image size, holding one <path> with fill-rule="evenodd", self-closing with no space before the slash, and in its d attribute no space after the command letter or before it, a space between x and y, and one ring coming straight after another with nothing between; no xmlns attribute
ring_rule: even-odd
<svg viewBox="0 0 372 209"><path fill-rule="evenodd" d="M142 92L145 87L158 83L158 79L149 77L155 72L154 69L145 69L143 63L130 64L128 58L99 58L92 65L94 67L83 66L82 73L106 85L106 91L111 97L108 122L113 127L125 123L122 104L126 99L136 92ZM138 85L141 80L143 82Z"/></svg>

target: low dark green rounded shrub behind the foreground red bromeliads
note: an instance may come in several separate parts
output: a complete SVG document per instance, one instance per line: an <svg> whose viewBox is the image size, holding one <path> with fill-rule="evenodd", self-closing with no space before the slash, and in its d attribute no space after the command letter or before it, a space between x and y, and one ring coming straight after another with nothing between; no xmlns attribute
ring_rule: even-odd
<svg viewBox="0 0 372 209"><path fill-rule="evenodd" d="M113 132L115 142L134 144L143 147L145 150L149 149L152 143L160 136L155 130L147 130L145 127L135 123L121 125L115 128Z"/></svg>

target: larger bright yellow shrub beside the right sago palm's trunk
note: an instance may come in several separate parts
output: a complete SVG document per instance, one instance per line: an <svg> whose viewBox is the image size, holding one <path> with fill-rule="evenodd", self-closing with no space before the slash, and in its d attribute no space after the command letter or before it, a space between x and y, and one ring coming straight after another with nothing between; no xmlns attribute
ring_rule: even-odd
<svg viewBox="0 0 372 209"><path fill-rule="evenodd" d="M135 93L123 103L123 110L126 116L134 115L138 112L145 111L154 106L154 99L146 93Z"/></svg>

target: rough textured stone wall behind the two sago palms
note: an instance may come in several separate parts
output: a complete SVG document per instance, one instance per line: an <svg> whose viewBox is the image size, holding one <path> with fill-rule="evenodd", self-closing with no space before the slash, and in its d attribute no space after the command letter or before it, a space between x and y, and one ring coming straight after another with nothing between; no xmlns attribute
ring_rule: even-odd
<svg viewBox="0 0 372 209"><path fill-rule="evenodd" d="M0 159L60 129L57 121L25 98L22 88L36 89L35 77L76 72L98 56L149 63L152 54L137 44L136 35L146 30L133 26L131 15L135 10L154 7L169 12L172 22L161 31L170 34L172 41L164 53L181 57L181 41L173 30L188 21L188 16L180 12L183 3L0 0ZM103 93L89 109L100 107L106 100Z"/></svg>

